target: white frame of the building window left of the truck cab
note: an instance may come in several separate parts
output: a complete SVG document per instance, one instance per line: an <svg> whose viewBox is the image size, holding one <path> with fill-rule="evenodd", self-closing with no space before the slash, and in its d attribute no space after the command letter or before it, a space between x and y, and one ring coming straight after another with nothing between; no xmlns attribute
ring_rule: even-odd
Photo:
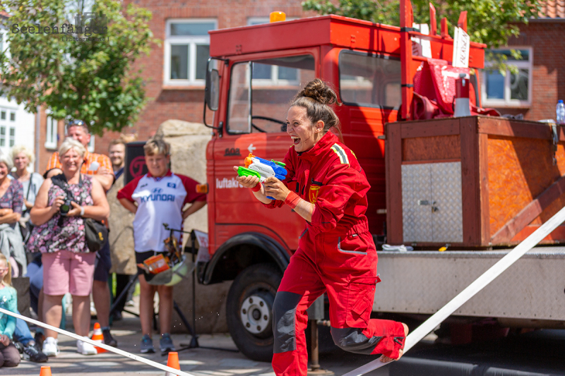
<svg viewBox="0 0 565 376"><path fill-rule="evenodd" d="M210 45L210 35L170 35L171 25L174 23L213 23L213 30L218 29L218 20L215 18L172 18L165 22L165 67L163 83L167 86L204 86L206 80L196 79L196 45ZM189 78L188 80L174 80L171 77L171 46L174 44L189 45Z"/></svg>

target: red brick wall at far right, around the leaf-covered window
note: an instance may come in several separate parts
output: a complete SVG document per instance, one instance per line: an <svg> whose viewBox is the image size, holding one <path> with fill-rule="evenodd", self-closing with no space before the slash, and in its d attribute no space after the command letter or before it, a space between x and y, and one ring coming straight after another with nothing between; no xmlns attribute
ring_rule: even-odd
<svg viewBox="0 0 565 376"><path fill-rule="evenodd" d="M555 105L565 100L565 22L535 20L520 26L509 46L533 48L532 101L528 108L500 108L502 114L523 114L527 120L555 119Z"/></svg>

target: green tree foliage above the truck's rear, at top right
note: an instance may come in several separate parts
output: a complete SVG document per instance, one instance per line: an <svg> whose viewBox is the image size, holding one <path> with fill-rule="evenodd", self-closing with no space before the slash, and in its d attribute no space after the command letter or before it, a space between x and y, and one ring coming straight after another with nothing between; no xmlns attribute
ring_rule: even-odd
<svg viewBox="0 0 565 376"><path fill-rule="evenodd" d="M412 0L415 23L429 23L429 0ZM335 4L334 4L335 3ZM459 13L468 11L468 34L472 42L489 48L506 45L509 37L518 36L518 23L537 17L540 0L439 0L432 1L439 21L446 17L453 36ZM321 14L336 14L369 20L374 23L400 25L400 2L379 0L306 0L302 7Z"/></svg>

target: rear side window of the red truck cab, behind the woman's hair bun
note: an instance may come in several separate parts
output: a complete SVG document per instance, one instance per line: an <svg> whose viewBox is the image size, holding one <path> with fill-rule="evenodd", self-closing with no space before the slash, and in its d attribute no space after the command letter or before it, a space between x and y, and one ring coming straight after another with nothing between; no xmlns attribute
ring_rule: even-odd
<svg viewBox="0 0 565 376"><path fill-rule="evenodd" d="M341 51L340 97L354 106L398 109L400 72L398 59Z"/></svg>

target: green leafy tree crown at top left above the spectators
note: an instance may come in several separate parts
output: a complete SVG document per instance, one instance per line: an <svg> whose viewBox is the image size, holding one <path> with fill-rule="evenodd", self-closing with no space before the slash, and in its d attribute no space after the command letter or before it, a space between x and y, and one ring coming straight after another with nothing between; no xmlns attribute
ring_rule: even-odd
<svg viewBox="0 0 565 376"><path fill-rule="evenodd" d="M99 135L136 121L146 99L141 70L131 64L157 42L150 11L115 0L88 10L84 0L3 0L1 7L11 15L4 21L9 51L0 54L3 93L28 111L44 105L55 119L83 119ZM77 14L85 15L80 24Z"/></svg>

